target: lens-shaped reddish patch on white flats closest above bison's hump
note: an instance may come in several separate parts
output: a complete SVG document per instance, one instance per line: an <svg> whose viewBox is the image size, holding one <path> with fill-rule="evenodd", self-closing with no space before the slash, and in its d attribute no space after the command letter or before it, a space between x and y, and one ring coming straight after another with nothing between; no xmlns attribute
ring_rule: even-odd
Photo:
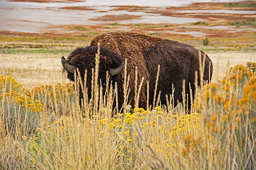
<svg viewBox="0 0 256 170"><path fill-rule="evenodd" d="M120 20L133 20L139 18L139 15L119 14L119 15L105 15L90 19L92 21L120 21Z"/></svg>

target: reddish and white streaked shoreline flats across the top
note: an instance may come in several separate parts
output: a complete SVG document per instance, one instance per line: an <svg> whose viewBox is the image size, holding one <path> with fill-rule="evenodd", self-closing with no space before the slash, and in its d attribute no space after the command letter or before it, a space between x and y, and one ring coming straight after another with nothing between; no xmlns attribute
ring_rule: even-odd
<svg viewBox="0 0 256 170"><path fill-rule="evenodd" d="M20 2L22 0L15 1L19 2L0 8L3 16L0 19L0 35L3 32L20 32L17 36L34 33L45 37L64 34L87 36L92 32L100 34L108 31L134 31L167 39L256 38L253 34L256 32L256 5L253 1L241 1L238 5L208 2L164 7L79 6L77 3L65 3L65 6L33 3L34 6L29 7L26 2ZM16 3L20 5L17 6Z"/></svg>

